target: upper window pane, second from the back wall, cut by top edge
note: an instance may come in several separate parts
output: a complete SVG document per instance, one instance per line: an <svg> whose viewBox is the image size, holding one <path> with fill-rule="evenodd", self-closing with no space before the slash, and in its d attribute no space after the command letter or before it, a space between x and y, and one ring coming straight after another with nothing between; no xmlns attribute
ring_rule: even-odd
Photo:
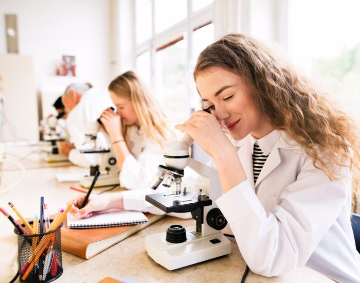
<svg viewBox="0 0 360 283"><path fill-rule="evenodd" d="M187 0L155 0L155 32L185 19Z"/></svg>

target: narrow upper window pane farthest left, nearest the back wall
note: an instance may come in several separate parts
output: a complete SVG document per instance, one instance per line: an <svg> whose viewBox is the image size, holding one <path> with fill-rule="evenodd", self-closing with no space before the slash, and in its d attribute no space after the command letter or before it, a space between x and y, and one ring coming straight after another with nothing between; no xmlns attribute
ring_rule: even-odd
<svg viewBox="0 0 360 283"><path fill-rule="evenodd" d="M136 0L136 43L141 43L152 36L151 0Z"/></svg>

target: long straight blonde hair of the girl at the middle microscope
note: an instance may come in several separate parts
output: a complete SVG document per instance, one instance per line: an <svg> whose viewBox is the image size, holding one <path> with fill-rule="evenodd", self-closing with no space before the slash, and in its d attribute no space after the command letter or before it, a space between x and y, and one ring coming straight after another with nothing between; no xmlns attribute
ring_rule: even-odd
<svg viewBox="0 0 360 283"><path fill-rule="evenodd" d="M128 71L118 76L109 84L108 90L132 102L140 127L148 138L160 146L175 138L170 120L161 111L146 84L134 72ZM122 125L125 141L128 141L127 132L128 126Z"/></svg>

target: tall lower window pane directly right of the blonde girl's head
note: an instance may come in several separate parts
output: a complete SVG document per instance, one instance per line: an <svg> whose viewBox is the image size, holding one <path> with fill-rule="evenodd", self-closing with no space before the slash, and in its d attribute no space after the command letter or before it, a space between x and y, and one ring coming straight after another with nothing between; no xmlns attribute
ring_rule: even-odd
<svg viewBox="0 0 360 283"><path fill-rule="evenodd" d="M175 122L189 117L186 89L186 40L156 52L157 97L161 108Z"/></svg>

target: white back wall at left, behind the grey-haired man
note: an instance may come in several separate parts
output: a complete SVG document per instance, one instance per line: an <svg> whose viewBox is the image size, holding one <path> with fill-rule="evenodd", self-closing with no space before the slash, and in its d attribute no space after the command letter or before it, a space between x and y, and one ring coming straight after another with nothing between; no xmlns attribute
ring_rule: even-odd
<svg viewBox="0 0 360 283"><path fill-rule="evenodd" d="M17 15L19 54L33 57L35 84L55 75L62 55L76 56L77 75L98 86L110 81L110 0L1 0L0 54L5 16Z"/></svg>

